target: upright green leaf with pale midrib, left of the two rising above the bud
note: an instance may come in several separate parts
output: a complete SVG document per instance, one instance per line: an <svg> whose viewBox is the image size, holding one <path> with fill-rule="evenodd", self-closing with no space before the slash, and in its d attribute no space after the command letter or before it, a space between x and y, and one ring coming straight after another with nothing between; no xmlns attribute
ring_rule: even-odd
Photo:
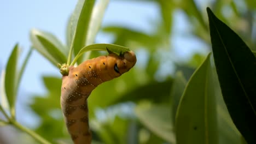
<svg viewBox="0 0 256 144"><path fill-rule="evenodd" d="M86 46L88 39L88 29L94 7L95 0L85 1L79 0L71 17L71 35L72 44L68 53L67 64L71 62L72 52L76 56L82 47Z"/></svg>

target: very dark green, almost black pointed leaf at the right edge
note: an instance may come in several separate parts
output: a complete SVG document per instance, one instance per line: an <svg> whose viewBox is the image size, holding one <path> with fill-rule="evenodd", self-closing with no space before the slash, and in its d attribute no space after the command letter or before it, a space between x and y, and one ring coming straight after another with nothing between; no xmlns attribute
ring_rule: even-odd
<svg viewBox="0 0 256 144"><path fill-rule="evenodd" d="M214 62L232 121L248 143L256 143L256 59L243 40L207 8Z"/></svg>

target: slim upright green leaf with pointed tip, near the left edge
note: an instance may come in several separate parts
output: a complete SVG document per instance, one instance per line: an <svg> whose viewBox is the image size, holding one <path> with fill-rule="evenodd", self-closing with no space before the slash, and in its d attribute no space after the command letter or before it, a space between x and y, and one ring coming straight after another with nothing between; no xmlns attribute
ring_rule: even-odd
<svg viewBox="0 0 256 144"><path fill-rule="evenodd" d="M19 58L19 45L14 46L13 51L8 59L7 66L5 68L4 86L5 93L10 106L10 113L12 117L15 117L15 101L17 95L18 84L18 58Z"/></svg>

